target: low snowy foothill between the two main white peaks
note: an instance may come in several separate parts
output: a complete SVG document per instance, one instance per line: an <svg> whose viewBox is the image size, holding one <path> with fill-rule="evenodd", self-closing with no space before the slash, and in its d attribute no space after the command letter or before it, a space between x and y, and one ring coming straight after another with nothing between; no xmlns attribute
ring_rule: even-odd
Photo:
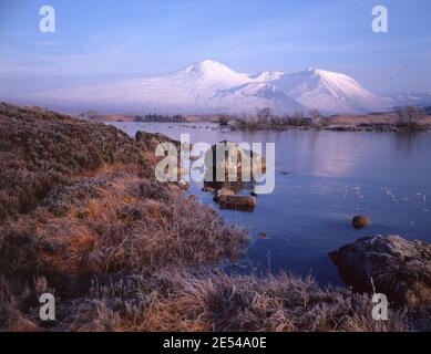
<svg viewBox="0 0 431 354"><path fill-rule="evenodd" d="M220 91L212 98L228 113L255 113L258 108L270 107L280 114L305 112L306 108L287 96L278 87L264 82L252 82Z"/></svg>

